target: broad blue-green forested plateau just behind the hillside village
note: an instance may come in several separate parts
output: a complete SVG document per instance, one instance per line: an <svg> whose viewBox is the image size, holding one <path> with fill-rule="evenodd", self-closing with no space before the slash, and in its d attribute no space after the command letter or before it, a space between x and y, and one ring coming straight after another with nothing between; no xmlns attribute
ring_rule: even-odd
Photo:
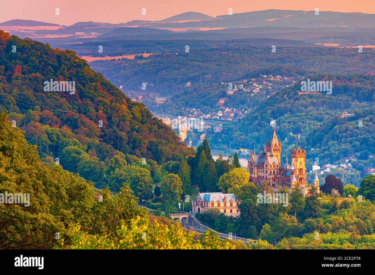
<svg viewBox="0 0 375 275"><path fill-rule="evenodd" d="M184 52L185 46L189 52ZM98 60L90 63L114 85L126 90L166 94L205 94L213 83L237 79L260 67L288 66L329 74L367 74L374 70L375 51L359 53L353 48L282 48L272 53L269 47L196 49L181 44L183 52L151 55L144 59ZM190 87L185 87L191 81ZM151 85L152 84L152 85ZM208 86L208 87L207 87ZM194 101L192 101L194 102Z"/></svg>

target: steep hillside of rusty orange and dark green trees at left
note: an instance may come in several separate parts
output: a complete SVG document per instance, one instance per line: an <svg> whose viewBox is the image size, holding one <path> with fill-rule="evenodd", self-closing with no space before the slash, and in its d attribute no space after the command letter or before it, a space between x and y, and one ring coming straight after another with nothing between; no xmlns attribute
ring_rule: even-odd
<svg viewBox="0 0 375 275"><path fill-rule="evenodd" d="M15 49L15 51L14 51ZM45 91L45 81L74 81L75 92ZM105 187L114 156L159 164L194 155L169 126L126 97L73 51L51 49L0 31L0 108L25 130L48 165L80 172ZM56 160L58 158L59 160Z"/></svg>

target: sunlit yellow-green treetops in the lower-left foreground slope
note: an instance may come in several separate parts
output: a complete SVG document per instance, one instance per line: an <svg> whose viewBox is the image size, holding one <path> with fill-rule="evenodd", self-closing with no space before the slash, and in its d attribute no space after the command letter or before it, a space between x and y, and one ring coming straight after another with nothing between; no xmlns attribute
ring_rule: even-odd
<svg viewBox="0 0 375 275"><path fill-rule="evenodd" d="M233 241L188 232L137 207L127 184L121 193L40 162L23 131L0 114L0 192L29 194L28 206L0 204L0 249L229 249ZM6 193L7 192L7 193Z"/></svg>

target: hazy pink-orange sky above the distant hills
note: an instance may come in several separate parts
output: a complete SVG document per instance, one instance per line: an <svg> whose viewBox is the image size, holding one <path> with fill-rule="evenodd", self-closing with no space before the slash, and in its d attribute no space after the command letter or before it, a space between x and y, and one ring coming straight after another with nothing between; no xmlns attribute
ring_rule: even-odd
<svg viewBox="0 0 375 275"><path fill-rule="evenodd" d="M141 9L146 8L146 15ZM60 15L55 15L55 8ZM28 19L72 25L79 21L121 23L162 20L183 12L210 16L266 9L375 13L375 0L1 0L0 22Z"/></svg>

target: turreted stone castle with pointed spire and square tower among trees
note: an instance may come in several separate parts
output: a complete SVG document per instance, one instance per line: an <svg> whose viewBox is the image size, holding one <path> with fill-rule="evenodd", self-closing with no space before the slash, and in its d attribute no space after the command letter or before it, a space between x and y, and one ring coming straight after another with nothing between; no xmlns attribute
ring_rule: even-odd
<svg viewBox="0 0 375 275"><path fill-rule="evenodd" d="M250 173L250 181L260 184L261 181L268 181L274 191L281 187L292 189L298 184L303 196L309 195L310 186L306 181L306 150L297 146L297 149L291 150L291 164L288 163L288 152L285 164L281 165L281 142L272 128L272 134L267 140L264 147L261 147L259 154L250 153L248 162L248 171ZM313 185L319 189L319 179L315 172Z"/></svg>

